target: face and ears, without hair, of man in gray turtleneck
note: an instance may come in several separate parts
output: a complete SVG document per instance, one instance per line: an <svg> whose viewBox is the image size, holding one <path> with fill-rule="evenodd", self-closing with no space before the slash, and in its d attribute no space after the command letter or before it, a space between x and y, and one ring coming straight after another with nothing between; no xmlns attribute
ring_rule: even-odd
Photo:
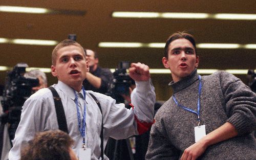
<svg viewBox="0 0 256 160"><path fill-rule="evenodd" d="M168 46L168 58L163 57L163 65L172 72L174 82L191 74L198 67L199 57L196 56L193 44L180 38L172 41Z"/></svg>

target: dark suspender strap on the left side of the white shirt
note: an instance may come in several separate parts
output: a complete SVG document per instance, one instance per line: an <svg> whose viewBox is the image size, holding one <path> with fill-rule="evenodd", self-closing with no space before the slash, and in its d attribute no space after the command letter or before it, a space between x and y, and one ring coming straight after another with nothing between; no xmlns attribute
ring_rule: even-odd
<svg viewBox="0 0 256 160"><path fill-rule="evenodd" d="M66 116L63 109L63 105L61 103L61 99L59 98L59 95L57 91L54 89L54 87L50 86L48 88L51 90L53 95L59 129L62 131L65 131L66 133L69 133Z"/></svg>

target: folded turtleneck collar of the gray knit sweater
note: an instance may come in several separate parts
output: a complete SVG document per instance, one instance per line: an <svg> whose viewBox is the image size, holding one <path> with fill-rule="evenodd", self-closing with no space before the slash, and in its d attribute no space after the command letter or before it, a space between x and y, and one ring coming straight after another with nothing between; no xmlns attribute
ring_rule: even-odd
<svg viewBox="0 0 256 160"><path fill-rule="evenodd" d="M168 85L173 88L174 93L177 93L180 90L194 83L197 79L198 79L198 73L197 73L197 69L195 69L189 76L181 79L178 82L172 81Z"/></svg>

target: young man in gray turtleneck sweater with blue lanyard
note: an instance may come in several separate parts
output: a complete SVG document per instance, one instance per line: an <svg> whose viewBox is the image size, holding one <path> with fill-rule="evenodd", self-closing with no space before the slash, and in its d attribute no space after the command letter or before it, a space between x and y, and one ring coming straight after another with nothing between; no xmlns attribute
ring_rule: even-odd
<svg viewBox="0 0 256 160"><path fill-rule="evenodd" d="M256 95L223 71L197 74L192 35L167 39L165 68L172 72L173 96L158 110L146 159L256 159Z"/></svg>

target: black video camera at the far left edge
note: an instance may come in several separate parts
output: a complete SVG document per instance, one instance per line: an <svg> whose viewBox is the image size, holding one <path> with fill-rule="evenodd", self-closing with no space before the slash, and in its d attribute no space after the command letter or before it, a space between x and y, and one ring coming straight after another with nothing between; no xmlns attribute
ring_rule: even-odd
<svg viewBox="0 0 256 160"><path fill-rule="evenodd" d="M24 102L32 95L32 87L39 85L39 80L34 77L24 77L26 63L18 63L12 71L7 73L5 89L3 92L3 115L0 116L2 123L10 123L10 138L14 134L20 121L20 114Z"/></svg>

